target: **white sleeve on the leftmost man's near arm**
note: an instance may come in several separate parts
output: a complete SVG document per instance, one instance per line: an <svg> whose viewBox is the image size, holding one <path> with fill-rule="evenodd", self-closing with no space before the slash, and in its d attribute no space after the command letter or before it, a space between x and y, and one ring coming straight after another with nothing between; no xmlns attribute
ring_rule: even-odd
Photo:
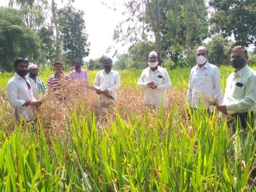
<svg viewBox="0 0 256 192"><path fill-rule="evenodd" d="M18 99L18 87L15 82L9 82L9 84L7 84L7 97L10 104L15 108L22 107L22 105L26 102Z"/></svg>

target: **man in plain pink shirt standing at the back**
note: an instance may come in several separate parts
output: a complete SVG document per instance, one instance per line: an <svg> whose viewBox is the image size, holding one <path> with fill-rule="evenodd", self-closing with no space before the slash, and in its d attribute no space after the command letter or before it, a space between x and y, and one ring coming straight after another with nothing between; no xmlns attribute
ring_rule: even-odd
<svg viewBox="0 0 256 192"><path fill-rule="evenodd" d="M74 60L74 70L69 73L71 79L79 79L89 84L88 73L82 69L81 59Z"/></svg>

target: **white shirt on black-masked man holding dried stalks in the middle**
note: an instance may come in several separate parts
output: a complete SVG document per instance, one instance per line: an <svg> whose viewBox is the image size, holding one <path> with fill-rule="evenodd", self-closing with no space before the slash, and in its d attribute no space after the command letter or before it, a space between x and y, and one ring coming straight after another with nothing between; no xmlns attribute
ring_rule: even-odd
<svg viewBox="0 0 256 192"><path fill-rule="evenodd" d="M120 88L120 75L118 71L111 69L107 74L105 70L98 71L94 80L94 87L101 91L108 90L109 94L115 98L116 101L116 91ZM107 98L103 94L98 97L98 102L109 103L113 102L113 99Z"/></svg>

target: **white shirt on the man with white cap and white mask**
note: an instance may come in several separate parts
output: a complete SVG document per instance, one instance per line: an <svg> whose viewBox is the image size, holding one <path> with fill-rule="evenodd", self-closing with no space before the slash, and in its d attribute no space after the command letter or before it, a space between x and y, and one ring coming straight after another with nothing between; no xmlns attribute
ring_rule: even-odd
<svg viewBox="0 0 256 192"><path fill-rule="evenodd" d="M153 81L157 88L152 89L147 86L148 82ZM166 90L171 87L171 80L165 68L157 67L154 72L151 68L142 71L140 79L137 82L139 88L143 89L143 99L145 104L153 104L160 106L163 101L163 107L167 106Z"/></svg>

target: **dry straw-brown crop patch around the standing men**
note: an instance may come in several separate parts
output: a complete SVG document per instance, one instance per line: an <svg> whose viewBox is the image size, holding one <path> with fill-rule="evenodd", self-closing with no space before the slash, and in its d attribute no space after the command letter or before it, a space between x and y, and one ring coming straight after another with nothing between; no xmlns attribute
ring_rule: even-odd
<svg viewBox="0 0 256 192"><path fill-rule="evenodd" d="M181 110L185 105L183 91L172 88L168 90L167 98L168 107L170 108L174 105L175 100L177 100L177 104ZM10 111L7 113L9 116L5 117L5 119L10 119L12 110L10 110L11 107L5 93L2 93L1 99L0 105L5 102ZM89 112L95 113L96 119L101 126L110 124L110 116L116 118L113 107L103 110L97 109L98 94L96 94L95 88L79 80L60 80L55 88L50 88L46 91L46 94L44 94L41 100L43 104L40 108L36 109L37 119L40 120L37 121L37 124L42 123L46 133L50 133L51 135L62 135L64 132L67 132L66 120L71 119L75 110L77 116L82 116ZM139 119L143 117L145 112L149 112L149 109L143 103L142 91L136 87L122 87L118 90L118 100L115 103L115 107L119 115L127 121L129 120L129 116L133 115Z"/></svg>

